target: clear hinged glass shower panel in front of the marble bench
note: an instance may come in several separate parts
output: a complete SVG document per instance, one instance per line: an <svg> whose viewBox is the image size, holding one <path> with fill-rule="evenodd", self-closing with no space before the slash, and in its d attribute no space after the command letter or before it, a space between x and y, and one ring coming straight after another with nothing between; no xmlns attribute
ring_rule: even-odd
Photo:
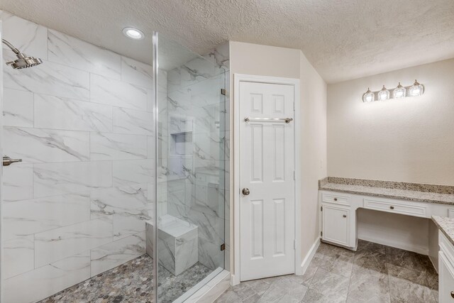
<svg viewBox="0 0 454 303"><path fill-rule="evenodd" d="M172 302L224 268L226 70L162 35L158 54L157 297Z"/></svg>

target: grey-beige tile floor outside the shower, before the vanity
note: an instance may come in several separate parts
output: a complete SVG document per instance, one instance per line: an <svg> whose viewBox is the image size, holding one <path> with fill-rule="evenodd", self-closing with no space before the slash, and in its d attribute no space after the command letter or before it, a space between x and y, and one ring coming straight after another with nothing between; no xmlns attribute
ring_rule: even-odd
<svg viewBox="0 0 454 303"><path fill-rule="evenodd" d="M230 287L218 303L438 302L438 275L426 255L360 241L358 251L321 243L304 275Z"/></svg>

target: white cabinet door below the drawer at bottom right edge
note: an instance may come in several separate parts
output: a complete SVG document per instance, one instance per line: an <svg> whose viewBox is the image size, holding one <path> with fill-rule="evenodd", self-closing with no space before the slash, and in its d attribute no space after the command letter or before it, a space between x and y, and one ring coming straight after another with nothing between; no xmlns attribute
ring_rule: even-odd
<svg viewBox="0 0 454 303"><path fill-rule="evenodd" d="M438 252L438 302L454 303L454 268L443 251Z"/></svg>

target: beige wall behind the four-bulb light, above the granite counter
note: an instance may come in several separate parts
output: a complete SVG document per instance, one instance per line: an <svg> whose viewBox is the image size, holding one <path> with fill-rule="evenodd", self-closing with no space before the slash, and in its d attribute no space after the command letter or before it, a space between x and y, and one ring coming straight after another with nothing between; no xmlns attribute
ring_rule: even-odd
<svg viewBox="0 0 454 303"><path fill-rule="evenodd" d="M421 97L362 102L418 79ZM328 85L328 175L454 184L454 59Z"/></svg>

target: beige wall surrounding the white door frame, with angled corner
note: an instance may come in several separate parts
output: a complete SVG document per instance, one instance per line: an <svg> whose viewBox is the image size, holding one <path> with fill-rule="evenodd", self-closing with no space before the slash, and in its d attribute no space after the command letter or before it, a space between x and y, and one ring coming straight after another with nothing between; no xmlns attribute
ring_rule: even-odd
<svg viewBox="0 0 454 303"><path fill-rule="evenodd" d="M301 50L231 41L230 64L232 97L234 74L300 79L301 184L297 184L297 188L301 190L302 260L318 237L318 180L326 177L326 83L306 60ZM234 112L233 107L231 112ZM233 177L233 174L231 175ZM233 207L231 214L233 216ZM233 245L231 250L233 251ZM233 265L233 254L231 260Z"/></svg>

